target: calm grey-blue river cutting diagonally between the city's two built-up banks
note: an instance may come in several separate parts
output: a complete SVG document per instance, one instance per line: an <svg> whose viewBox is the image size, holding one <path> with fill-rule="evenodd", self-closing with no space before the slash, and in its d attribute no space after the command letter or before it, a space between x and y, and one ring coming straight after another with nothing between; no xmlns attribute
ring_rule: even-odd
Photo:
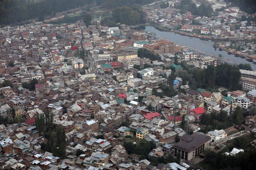
<svg viewBox="0 0 256 170"><path fill-rule="evenodd" d="M146 26L145 32L155 33L156 36L161 36L163 38L169 39L170 41L178 42L179 44L182 44L184 46L188 46L199 51L204 51L208 54L215 55L217 57L219 56L219 54L221 54L224 57L224 59L230 59L230 61L235 62L237 64L251 64L252 69L256 70L256 64L253 64L252 62L249 62L240 57L235 57L235 55L233 54L229 55L227 54L226 51L219 51L219 48L217 48L215 51L215 49L213 48L214 42L211 40L204 41L200 40L199 38L183 36L180 34L176 34L174 32L159 31L153 26Z"/></svg>

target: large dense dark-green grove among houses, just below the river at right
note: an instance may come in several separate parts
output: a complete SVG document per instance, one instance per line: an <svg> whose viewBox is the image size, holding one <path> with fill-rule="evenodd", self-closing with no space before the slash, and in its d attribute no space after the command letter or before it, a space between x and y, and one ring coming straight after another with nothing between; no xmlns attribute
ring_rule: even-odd
<svg viewBox="0 0 256 170"><path fill-rule="evenodd" d="M199 69L187 66L185 63L180 63L182 69L176 71L176 75L183 79L183 82L188 81L193 89L225 87L229 90L240 89L241 73L238 66L233 66L227 63L219 64L216 67L208 65L207 68Z"/></svg>

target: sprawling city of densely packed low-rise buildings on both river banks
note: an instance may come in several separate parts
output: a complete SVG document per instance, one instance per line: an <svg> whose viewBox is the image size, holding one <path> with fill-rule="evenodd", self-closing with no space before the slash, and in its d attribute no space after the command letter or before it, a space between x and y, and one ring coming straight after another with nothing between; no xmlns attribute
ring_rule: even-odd
<svg viewBox="0 0 256 170"><path fill-rule="evenodd" d="M213 11L224 3L213 2ZM127 22L139 23L142 10L157 26L194 22L172 8L178 3L145 5ZM121 9L132 8L116 8L118 27L94 20L0 28L0 169L254 166L256 71L123 24ZM200 21L220 33L231 27Z"/></svg>

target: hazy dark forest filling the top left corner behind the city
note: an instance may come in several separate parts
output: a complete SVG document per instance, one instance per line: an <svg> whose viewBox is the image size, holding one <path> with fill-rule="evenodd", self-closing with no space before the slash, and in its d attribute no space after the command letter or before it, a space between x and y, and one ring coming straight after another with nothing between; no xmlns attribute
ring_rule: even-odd
<svg viewBox="0 0 256 170"><path fill-rule="evenodd" d="M36 3L17 2L20 1L6 0L0 2L0 16L4 16L0 17L0 24L14 24L35 18L43 21L46 16L53 17L57 12L94 3L90 0L44 0Z"/></svg>

